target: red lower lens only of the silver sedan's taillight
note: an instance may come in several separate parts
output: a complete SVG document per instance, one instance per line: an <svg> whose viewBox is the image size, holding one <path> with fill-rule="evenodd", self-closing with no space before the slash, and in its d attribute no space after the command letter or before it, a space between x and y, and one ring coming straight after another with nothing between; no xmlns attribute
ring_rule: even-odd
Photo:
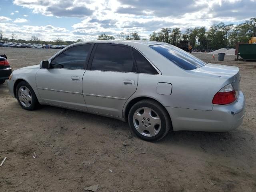
<svg viewBox="0 0 256 192"><path fill-rule="evenodd" d="M236 100L236 91L218 92L214 95L212 103L217 105L226 105L234 102L235 100Z"/></svg>

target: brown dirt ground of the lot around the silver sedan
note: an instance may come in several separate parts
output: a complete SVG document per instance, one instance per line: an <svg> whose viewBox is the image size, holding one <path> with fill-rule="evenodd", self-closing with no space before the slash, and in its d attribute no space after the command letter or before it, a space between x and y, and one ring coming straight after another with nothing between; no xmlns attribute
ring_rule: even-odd
<svg viewBox="0 0 256 192"><path fill-rule="evenodd" d="M0 47L14 70L39 64L56 51ZM0 85L0 162L7 159L0 167L0 191L76 192L99 184L102 192L255 192L256 62L192 54L240 68L247 102L240 128L170 132L150 143L137 138L128 123L111 118L52 106L23 110L5 83Z"/></svg>

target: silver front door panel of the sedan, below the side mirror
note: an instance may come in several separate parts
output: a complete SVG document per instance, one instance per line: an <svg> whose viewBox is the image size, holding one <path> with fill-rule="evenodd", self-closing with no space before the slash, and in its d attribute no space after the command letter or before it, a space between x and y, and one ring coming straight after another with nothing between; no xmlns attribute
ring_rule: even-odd
<svg viewBox="0 0 256 192"><path fill-rule="evenodd" d="M40 69L36 85L43 102L86 110L82 94L82 79L85 70Z"/></svg>

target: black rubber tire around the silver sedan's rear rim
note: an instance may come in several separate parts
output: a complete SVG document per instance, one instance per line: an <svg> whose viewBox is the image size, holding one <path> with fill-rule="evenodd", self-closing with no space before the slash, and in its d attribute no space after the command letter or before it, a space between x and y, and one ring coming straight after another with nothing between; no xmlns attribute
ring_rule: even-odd
<svg viewBox="0 0 256 192"><path fill-rule="evenodd" d="M160 130L154 136L145 136L145 135L143 135L144 133L142 134L142 133L138 132L137 129L135 128L133 116L134 116L134 114L135 114L135 112L137 110L139 110L140 108L144 108L144 107L150 108L154 112L156 112L156 114L159 116L159 118L161 120ZM132 108L129 111L128 122L129 122L129 126L133 130L133 132L139 138L141 138L143 140L146 140L146 141L158 141L158 140L161 140L162 138L164 138L164 136L166 136L166 134L172 128L172 122L170 120L170 116L169 116L168 112L166 111L166 109L161 104L159 104L158 102L156 102L154 100L151 100L151 99L141 100L141 101L137 102L136 104L134 104L134 106L132 106ZM146 122L143 122L143 123L151 125L151 124L149 124L149 122L150 121L146 120ZM140 122L138 122L138 123L140 123ZM146 126L146 125L144 125L144 126Z"/></svg>

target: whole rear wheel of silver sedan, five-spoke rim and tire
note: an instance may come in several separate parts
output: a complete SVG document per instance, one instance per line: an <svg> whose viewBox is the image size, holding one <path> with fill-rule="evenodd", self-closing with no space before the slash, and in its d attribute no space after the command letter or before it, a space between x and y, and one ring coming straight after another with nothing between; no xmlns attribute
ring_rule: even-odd
<svg viewBox="0 0 256 192"><path fill-rule="evenodd" d="M157 141L169 132L172 123L166 109L150 99L134 104L128 115L129 125L143 140Z"/></svg>

